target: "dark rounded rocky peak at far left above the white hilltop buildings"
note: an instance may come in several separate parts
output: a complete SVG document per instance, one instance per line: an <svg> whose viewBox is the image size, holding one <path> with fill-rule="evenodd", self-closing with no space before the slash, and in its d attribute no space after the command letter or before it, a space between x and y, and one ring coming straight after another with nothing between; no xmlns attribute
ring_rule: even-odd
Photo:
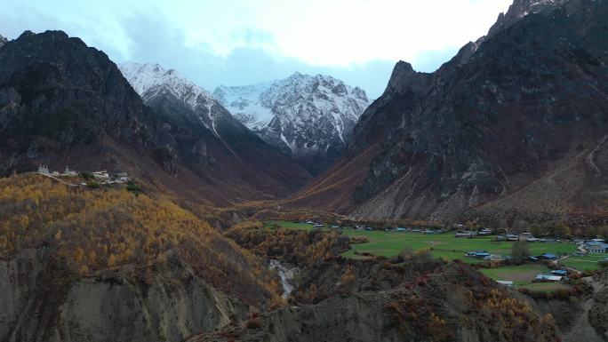
<svg viewBox="0 0 608 342"><path fill-rule="evenodd" d="M29 31L0 52L0 173L51 163L70 149L108 150L116 139L143 152L171 145L156 116L108 57L59 31Z"/></svg>

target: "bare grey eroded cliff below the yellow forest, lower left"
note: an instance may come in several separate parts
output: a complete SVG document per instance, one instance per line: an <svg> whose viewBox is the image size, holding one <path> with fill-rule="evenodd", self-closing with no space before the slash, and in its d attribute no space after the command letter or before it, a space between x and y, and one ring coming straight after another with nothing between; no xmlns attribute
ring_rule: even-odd
<svg viewBox="0 0 608 342"><path fill-rule="evenodd" d="M63 265L44 249L0 261L0 340L180 341L248 311L172 255L85 278Z"/></svg>

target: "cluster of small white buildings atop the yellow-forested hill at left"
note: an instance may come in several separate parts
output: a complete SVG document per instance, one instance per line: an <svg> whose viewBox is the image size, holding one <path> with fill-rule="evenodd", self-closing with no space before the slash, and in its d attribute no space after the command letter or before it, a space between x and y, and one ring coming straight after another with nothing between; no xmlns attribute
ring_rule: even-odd
<svg viewBox="0 0 608 342"><path fill-rule="evenodd" d="M68 166L63 172L51 171L47 165L39 165L37 171L33 173L43 175L45 177L55 179L60 183L64 183L68 186L76 187L80 186L91 186L91 184L108 185L108 184L126 184L131 181L127 172L116 172L110 174L108 171L92 171L92 172L78 172L70 170ZM94 183L87 181L81 181L79 183L71 183L69 179L82 178L87 181L92 180Z"/></svg>

